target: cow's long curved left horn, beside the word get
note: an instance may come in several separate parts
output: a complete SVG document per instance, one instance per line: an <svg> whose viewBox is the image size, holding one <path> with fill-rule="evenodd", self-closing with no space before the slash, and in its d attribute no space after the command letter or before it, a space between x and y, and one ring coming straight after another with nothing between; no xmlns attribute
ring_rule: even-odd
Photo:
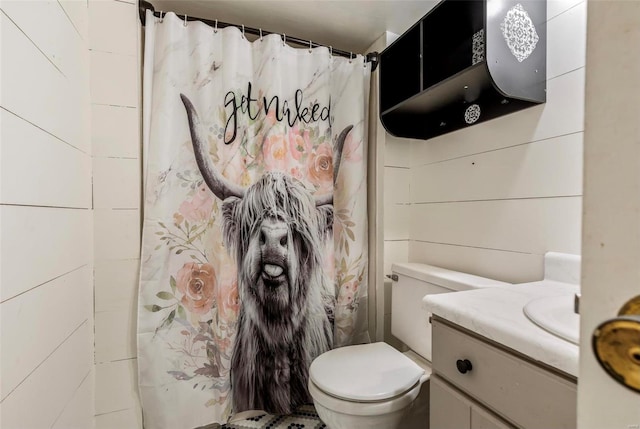
<svg viewBox="0 0 640 429"><path fill-rule="evenodd" d="M228 181L213 165L211 158L209 157L209 145L207 139L203 133L202 124L200 118L196 113L196 109L193 107L193 103L187 98L186 95L180 94L184 108L187 110L187 116L189 118L189 130L191 131L191 142L193 143L193 152L196 156L196 163L202 173L205 183L209 186L209 189L221 200L225 200L229 197L244 197L245 190Z"/></svg>

